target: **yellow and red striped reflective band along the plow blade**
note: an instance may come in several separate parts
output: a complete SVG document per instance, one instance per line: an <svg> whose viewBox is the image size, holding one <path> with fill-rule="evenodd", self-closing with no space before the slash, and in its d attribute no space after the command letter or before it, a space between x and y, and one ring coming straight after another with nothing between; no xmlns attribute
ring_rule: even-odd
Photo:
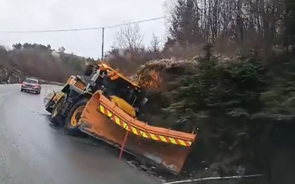
<svg viewBox="0 0 295 184"><path fill-rule="evenodd" d="M119 125L120 127L124 128L125 130L129 132L132 132L135 135L138 135L147 139L152 139L152 140L166 142L166 143L172 143L172 144L181 145L181 146L191 146L192 144L192 142L188 140L167 137L167 136L159 135L159 134L152 134L144 130L135 128L131 125L128 125L128 123L124 122L122 119L120 119L118 116L116 116L114 113L112 113L109 109L107 109L101 104L99 106L99 110L101 113L103 113L104 115L108 116L111 120L113 120L113 122L115 122L117 125Z"/></svg>

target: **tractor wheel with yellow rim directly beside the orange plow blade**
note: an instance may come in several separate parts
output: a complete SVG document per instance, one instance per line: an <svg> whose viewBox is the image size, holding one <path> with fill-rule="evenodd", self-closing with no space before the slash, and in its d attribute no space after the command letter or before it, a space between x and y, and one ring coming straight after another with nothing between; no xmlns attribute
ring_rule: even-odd
<svg viewBox="0 0 295 184"><path fill-rule="evenodd" d="M65 118L64 127L67 132L71 135L82 135L82 132L79 130L79 119L81 114L86 106L88 98L82 98L76 101L75 104L70 108L67 116Z"/></svg>

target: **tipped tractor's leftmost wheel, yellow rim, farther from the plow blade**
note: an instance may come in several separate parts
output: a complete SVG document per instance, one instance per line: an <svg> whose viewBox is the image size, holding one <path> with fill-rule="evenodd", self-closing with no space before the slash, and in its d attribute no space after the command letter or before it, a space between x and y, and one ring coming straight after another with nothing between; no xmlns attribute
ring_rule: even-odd
<svg viewBox="0 0 295 184"><path fill-rule="evenodd" d="M64 117L61 115L61 110L64 105L66 96L63 96L57 103L54 105L51 115L50 122L57 126L62 126L64 124Z"/></svg>

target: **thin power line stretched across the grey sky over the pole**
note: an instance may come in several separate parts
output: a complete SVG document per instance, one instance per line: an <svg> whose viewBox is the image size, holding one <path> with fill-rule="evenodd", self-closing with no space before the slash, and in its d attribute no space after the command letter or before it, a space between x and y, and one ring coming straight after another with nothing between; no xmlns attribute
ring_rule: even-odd
<svg viewBox="0 0 295 184"><path fill-rule="evenodd" d="M123 24L116 24L116 25L111 25L111 26L92 27L92 28L30 30L30 31L0 31L0 33L5 34L5 33L44 33L44 32L87 31L87 30L97 30L97 29L103 29L103 28L104 29L107 29L107 28L114 28L114 27L119 27L119 26L125 26L125 25L129 25L129 24L143 23L143 22L148 22L148 21L152 21L152 20L164 19L164 18L168 18L168 17L170 17L170 16L158 17L158 18L147 19L147 20L140 20L140 21L131 22L131 23L123 23Z"/></svg>

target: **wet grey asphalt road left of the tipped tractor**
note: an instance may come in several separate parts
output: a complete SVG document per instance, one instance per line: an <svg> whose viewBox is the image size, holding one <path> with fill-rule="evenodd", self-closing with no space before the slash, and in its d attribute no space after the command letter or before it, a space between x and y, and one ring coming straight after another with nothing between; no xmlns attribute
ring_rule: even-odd
<svg viewBox="0 0 295 184"><path fill-rule="evenodd" d="M53 127L41 95L0 85L0 183L157 183L118 160L116 151L94 146Z"/></svg>

